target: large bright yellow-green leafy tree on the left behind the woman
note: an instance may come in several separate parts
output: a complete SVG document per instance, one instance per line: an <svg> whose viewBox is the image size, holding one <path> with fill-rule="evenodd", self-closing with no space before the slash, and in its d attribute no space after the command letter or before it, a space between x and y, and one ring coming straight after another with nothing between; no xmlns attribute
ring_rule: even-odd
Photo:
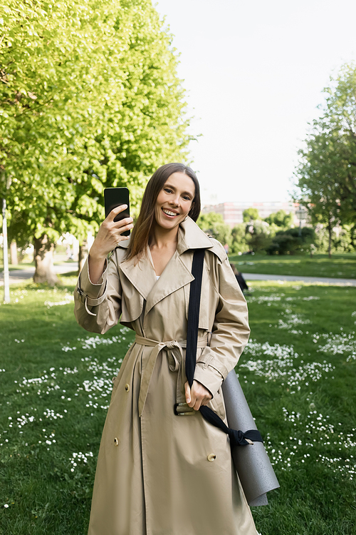
<svg viewBox="0 0 356 535"><path fill-rule="evenodd" d="M34 235L36 280L55 282L54 241L98 228L105 187L127 185L135 213L187 156L177 56L150 0L11 0L2 25L0 195L11 177L9 233Z"/></svg>

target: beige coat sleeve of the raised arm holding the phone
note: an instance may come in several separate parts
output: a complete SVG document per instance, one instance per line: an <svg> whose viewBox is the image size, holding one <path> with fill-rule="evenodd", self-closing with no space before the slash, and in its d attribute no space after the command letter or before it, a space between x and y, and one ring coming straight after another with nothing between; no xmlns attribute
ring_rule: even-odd
<svg viewBox="0 0 356 535"><path fill-rule="evenodd" d="M107 332L117 325L121 315L122 288L115 257L105 264L98 284L89 277L88 258L81 270L74 290L75 319L90 332Z"/></svg>

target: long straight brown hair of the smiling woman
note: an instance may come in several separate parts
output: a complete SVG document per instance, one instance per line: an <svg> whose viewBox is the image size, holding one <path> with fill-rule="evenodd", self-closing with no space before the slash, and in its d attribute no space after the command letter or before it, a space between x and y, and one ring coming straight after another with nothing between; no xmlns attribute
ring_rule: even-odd
<svg viewBox="0 0 356 535"><path fill-rule="evenodd" d="M200 213L200 188L197 175L184 163L166 163L159 167L147 183L145 193L143 194L140 215L137 223L132 230L130 244L127 248L127 260L134 256L142 255L142 252L148 245L152 225L155 220L156 201L159 192L173 173L184 173L192 178L195 187L195 195L192 202L192 208L189 211L189 217L197 221Z"/></svg>

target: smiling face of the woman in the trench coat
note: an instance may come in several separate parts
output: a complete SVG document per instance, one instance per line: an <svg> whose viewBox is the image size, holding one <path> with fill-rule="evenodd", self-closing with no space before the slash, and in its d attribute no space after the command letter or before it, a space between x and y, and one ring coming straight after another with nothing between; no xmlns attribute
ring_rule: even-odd
<svg viewBox="0 0 356 535"><path fill-rule="evenodd" d="M173 173L167 178L156 201L155 220L159 227L172 230L187 217L192 208L195 186L185 173Z"/></svg>

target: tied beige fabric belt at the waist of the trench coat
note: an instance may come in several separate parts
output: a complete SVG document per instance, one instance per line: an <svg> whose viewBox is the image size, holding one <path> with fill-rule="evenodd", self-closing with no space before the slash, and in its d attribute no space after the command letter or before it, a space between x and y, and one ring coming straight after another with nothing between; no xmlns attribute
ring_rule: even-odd
<svg viewBox="0 0 356 535"><path fill-rule="evenodd" d="M150 357L148 358L147 365L145 369L142 370L141 375L141 386L140 386L140 395L138 398L138 411L140 417L142 416L143 409L145 408L145 402L147 398L148 389L150 387L150 381L152 377L153 370L155 369L155 364L159 353L167 349L168 359L169 359L169 370L171 372L178 371L178 381L177 381L177 397L181 394L182 383L187 378L185 377L185 368L182 367L184 362L183 347L187 347L187 340L182 342L177 342L177 340L169 340L167 342L159 342L158 340L151 340L150 338L145 338L143 336L136 335L135 344L145 345L152 347L150 352ZM198 338L198 347L206 347L208 345L208 335Z"/></svg>

